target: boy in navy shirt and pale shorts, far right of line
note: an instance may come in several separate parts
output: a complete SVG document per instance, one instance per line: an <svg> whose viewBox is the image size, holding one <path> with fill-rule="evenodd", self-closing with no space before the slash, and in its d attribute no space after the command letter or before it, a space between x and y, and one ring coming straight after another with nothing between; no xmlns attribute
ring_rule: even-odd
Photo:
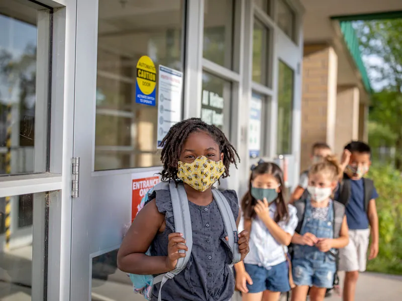
<svg viewBox="0 0 402 301"><path fill-rule="evenodd" d="M352 141L345 146L345 150L351 153L344 174L344 181L350 183L350 196L346 204L349 244L340 250L339 269L346 272L343 300L354 301L359 272L366 269L370 230L368 259L374 259L378 254L378 216L375 206L378 194L373 181L363 178L371 165L370 146L362 141Z"/></svg>

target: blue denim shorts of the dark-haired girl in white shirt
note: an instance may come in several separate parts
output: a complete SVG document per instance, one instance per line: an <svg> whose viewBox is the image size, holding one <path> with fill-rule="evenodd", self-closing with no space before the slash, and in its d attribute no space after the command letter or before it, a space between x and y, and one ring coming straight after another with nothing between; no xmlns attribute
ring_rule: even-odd
<svg viewBox="0 0 402 301"><path fill-rule="evenodd" d="M247 283L251 293L270 291L289 291L289 269L286 261L271 266L269 269L254 264L245 264L246 272L253 280L253 284Z"/></svg>

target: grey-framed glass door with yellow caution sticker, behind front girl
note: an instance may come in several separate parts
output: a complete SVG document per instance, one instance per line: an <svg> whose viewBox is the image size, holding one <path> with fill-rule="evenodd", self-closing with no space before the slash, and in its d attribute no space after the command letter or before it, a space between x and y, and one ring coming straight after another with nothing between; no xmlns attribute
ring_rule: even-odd
<svg viewBox="0 0 402 301"><path fill-rule="evenodd" d="M116 255L181 118L183 37L184 0L77 2L71 300L143 299Z"/></svg>

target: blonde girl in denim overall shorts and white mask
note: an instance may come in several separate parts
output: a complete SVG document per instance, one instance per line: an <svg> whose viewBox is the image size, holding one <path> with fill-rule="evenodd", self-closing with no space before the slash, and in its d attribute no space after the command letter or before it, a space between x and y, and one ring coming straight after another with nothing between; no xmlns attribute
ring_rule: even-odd
<svg viewBox="0 0 402 301"><path fill-rule="evenodd" d="M348 244L345 206L331 196L342 176L335 157L328 156L309 171L309 194L294 203L299 219L292 238L292 301L321 301L336 272L337 249Z"/></svg>

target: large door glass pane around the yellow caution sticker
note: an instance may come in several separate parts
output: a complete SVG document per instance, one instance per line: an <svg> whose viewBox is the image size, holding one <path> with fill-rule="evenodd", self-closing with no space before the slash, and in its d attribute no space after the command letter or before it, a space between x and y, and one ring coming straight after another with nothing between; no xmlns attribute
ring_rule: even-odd
<svg viewBox="0 0 402 301"><path fill-rule="evenodd" d="M183 8L184 0L99 0L95 170L160 165L158 70L159 65L183 69ZM143 55L156 69L154 105L136 102Z"/></svg>

